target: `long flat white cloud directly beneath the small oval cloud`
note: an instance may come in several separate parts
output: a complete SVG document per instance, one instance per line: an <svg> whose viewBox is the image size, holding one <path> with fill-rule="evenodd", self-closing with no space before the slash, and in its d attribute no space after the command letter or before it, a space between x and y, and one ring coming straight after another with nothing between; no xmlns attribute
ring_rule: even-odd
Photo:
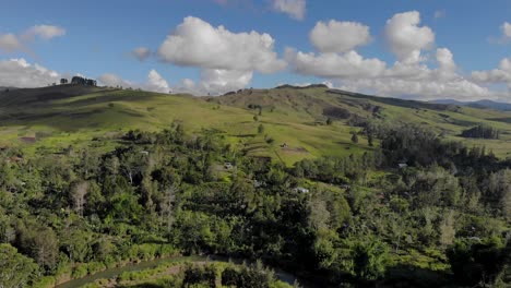
<svg viewBox="0 0 511 288"><path fill-rule="evenodd" d="M320 77L376 77L385 70L383 61L365 59L356 51L314 55L288 48L286 59L295 72Z"/></svg>

